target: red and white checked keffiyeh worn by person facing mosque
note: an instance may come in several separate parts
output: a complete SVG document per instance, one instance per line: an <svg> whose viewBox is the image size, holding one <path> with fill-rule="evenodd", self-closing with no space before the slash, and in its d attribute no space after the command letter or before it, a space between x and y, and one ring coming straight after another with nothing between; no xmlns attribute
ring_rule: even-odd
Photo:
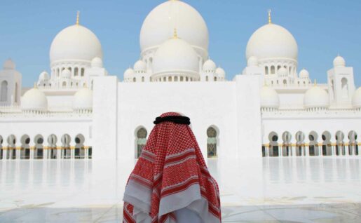
<svg viewBox="0 0 361 223"><path fill-rule="evenodd" d="M165 113L165 116L180 116ZM222 222L217 182L207 170L188 125L154 126L130 174L123 222L177 222L175 211L192 210L204 223Z"/></svg>

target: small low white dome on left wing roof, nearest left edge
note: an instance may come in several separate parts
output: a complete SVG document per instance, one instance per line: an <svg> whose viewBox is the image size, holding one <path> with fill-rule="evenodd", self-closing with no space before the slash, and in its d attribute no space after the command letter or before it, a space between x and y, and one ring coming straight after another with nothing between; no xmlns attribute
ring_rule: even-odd
<svg viewBox="0 0 361 223"><path fill-rule="evenodd" d="M41 90L32 88L22 96L21 108L24 111L46 112L48 100Z"/></svg>

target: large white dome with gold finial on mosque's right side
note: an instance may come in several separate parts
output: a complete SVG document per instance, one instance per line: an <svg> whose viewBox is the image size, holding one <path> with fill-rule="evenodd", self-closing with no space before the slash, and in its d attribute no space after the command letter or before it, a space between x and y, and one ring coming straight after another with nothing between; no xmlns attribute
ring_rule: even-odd
<svg viewBox="0 0 361 223"><path fill-rule="evenodd" d="M298 46L294 36L280 25L269 23L257 29L247 43L247 60L255 56L259 60L285 58L297 60Z"/></svg>

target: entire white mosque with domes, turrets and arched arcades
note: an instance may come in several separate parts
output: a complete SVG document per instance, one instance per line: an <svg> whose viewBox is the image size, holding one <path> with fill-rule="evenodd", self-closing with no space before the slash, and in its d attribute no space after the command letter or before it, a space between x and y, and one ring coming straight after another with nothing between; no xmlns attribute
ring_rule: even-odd
<svg viewBox="0 0 361 223"><path fill-rule="evenodd" d="M4 62L0 159L134 159L156 116L170 111L191 118L208 159L361 156L361 88L340 55L327 83L311 81L298 68L296 39L269 13L247 43L247 67L227 80L208 37L196 9L165 1L145 18L140 59L120 81L78 16L53 39L50 72L34 88L22 88L15 62Z"/></svg>

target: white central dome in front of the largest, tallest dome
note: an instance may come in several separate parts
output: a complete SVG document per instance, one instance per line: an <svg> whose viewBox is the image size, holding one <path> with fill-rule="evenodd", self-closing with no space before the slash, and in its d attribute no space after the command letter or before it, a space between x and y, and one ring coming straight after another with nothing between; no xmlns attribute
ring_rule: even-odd
<svg viewBox="0 0 361 223"><path fill-rule="evenodd" d="M198 55L182 39L169 39L156 51L153 60L154 74L164 72L199 72Z"/></svg>

